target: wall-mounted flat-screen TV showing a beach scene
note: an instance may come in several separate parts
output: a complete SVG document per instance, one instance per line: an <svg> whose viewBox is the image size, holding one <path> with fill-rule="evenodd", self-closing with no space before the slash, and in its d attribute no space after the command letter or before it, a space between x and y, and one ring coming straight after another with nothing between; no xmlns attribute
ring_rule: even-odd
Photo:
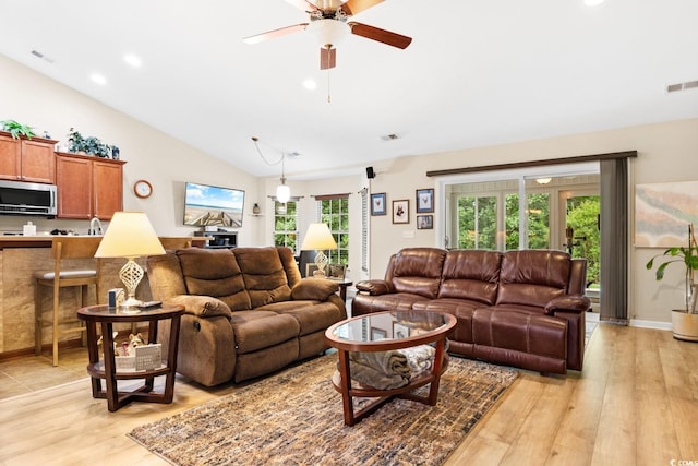
<svg viewBox="0 0 698 466"><path fill-rule="evenodd" d="M242 226L243 206L242 190L188 182L184 225L239 228Z"/></svg>

